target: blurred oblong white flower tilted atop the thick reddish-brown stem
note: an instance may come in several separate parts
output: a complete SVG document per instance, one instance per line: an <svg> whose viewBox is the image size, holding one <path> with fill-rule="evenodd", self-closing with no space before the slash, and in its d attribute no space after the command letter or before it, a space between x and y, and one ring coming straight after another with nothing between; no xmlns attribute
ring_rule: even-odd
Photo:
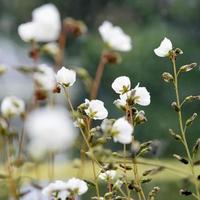
<svg viewBox="0 0 200 200"><path fill-rule="evenodd" d="M118 26L111 22L104 21L99 27L103 41L112 49L117 51L130 51L132 49L131 38L126 35Z"/></svg>

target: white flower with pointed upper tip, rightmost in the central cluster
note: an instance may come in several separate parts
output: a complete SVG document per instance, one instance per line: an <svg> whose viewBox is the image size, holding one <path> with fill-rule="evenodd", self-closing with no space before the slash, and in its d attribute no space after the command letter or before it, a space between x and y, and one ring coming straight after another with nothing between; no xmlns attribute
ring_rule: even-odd
<svg viewBox="0 0 200 200"><path fill-rule="evenodd" d="M146 87L139 87L138 85L134 88L135 90L135 103L141 106L148 106L151 103L150 93L147 91Z"/></svg>

